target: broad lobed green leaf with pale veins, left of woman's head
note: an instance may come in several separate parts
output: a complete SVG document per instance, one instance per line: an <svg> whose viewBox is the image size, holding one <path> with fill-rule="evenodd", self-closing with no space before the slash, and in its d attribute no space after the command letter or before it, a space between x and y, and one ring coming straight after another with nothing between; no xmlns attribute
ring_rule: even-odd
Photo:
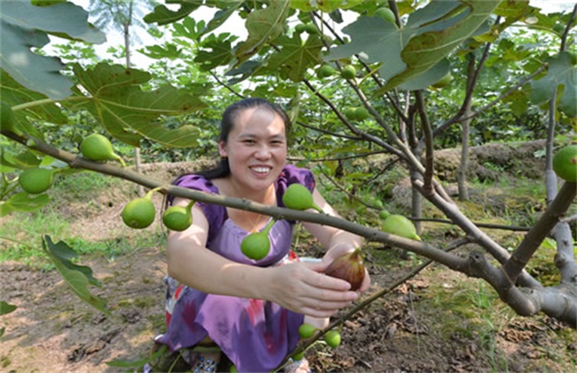
<svg viewBox="0 0 577 373"><path fill-rule="evenodd" d="M198 97L170 85L143 91L141 84L151 75L120 65L99 63L93 69L75 65L74 72L90 99L67 103L73 109L85 108L95 115L116 139L138 146L146 137L167 147L192 147L198 129L185 125L176 130L164 128L160 115L180 115L206 107Z"/></svg>

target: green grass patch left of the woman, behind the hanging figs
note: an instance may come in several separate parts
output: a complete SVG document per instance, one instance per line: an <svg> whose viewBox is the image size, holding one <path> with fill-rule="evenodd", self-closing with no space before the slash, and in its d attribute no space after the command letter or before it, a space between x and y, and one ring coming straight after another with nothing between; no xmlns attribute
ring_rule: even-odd
<svg viewBox="0 0 577 373"><path fill-rule="evenodd" d="M147 234L127 234L102 240L86 240L71 232L74 217L67 213L72 202L85 202L87 213L99 209L94 197L104 190L123 193L126 182L107 177L98 172L79 172L55 180L48 191L51 202L42 210L14 211L3 218L0 225L0 262L14 260L28 266L50 270L51 263L42 250L43 236L48 234L54 242L64 241L77 253L101 255L108 260L138 250L141 247L162 245L164 236L160 229ZM122 223L119 223L122 224Z"/></svg>

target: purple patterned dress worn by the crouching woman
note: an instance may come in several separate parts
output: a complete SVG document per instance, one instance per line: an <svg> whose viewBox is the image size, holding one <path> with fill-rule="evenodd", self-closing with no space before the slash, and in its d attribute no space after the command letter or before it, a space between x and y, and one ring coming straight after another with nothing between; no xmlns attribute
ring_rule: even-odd
<svg viewBox="0 0 577 373"><path fill-rule="evenodd" d="M315 184L311 171L287 165L275 182L279 206L283 207L282 194L293 183L300 183L311 192ZM218 188L209 179L194 174L180 177L175 184L218 194ZM196 205L209 220L209 250L251 266L274 266L292 258L294 221L277 221L269 233L269 254L252 260L241 253L241 241L249 233L228 218L225 206L203 202ZM166 283L168 329L157 342L168 345L172 351L192 347L209 336L240 372L264 372L276 368L296 347L303 314L261 299L207 294L180 285L168 276Z"/></svg>

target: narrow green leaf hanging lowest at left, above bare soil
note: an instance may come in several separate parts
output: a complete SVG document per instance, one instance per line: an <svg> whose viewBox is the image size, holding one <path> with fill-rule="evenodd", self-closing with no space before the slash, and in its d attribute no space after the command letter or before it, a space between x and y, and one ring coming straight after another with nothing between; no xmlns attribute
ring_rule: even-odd
<svg viewBox="0 0 577 373"><path fill-rule="evenodd" d="M104 299L92 295L88 289L88 285L100 286L99 281L92 275L91 268L72 263L73 259L78 258L75 250L68 246L66 242L52 242L48 235L43 237L42 248L68 287L75 292L78 298L81 298L100 312L110 314Z"/></svg>

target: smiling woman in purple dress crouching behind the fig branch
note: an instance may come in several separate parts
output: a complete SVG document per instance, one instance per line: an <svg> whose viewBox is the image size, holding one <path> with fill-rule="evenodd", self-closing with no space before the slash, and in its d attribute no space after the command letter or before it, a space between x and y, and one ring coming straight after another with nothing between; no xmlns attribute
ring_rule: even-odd
<svg viewBox="0 0 577 373"><path fill-rule="evenodd" d="M234 103L222 118L220 166L182 176L175 184L283 207L282 194L298 182L325 213L337 216L314 188L312 172L287 164L288 126L284 111L264 99ZM255 212L194 203L193 225L168 237L169 326L159 343L172 351L213 343L239 371L270 371L294 350L303 322L324 328L328 317L358 298L348 282L322 273L334 258L359 247L360 236L304 223L328 251L320 263L300 263L287 260L295 222L279 220L269 234L268 256L245 257L242 239L269 220ZM360 290L368 285L366 276ZM215 371L219 357L195 354L192 369ZM305 363L296 369L308 370Z"/></svg>

